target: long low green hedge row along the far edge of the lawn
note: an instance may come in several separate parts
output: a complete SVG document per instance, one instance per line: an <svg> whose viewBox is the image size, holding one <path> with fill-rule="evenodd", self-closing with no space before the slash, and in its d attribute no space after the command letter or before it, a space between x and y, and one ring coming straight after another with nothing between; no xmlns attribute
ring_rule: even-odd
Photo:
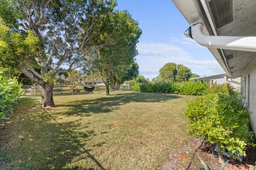
<svg viewBox="0 0 256 170"><path fill-rule="evenodd" d="M132 91L174 93L181 95L203 95L204 91L209 87L206 82L199 81L185 81L174 84L165 82L139 84L131 80L129 84Z"/></svg>

